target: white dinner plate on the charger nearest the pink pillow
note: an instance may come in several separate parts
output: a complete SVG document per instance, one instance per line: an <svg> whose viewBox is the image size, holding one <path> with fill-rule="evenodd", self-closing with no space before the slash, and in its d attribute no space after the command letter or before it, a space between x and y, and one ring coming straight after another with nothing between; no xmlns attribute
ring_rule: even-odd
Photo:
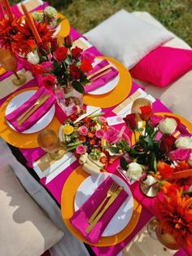
<svg viewBox="0 0 192 256"><path fill-rule="evenodd" d="M102 60L103 59L95 59L93 66L98 64ZM109 64L111 64L110 61L108 61L108 62L109 62ZM113 68L116 68L116 66L114 64L111 64L111 66ZM114 79L112 79L111 81L107 82L104 86L101 86L101 87L99 87L96 90L91 90L91 91L88 92L88 94L89 95L104 95L107 92L110 92L111 90L115 89L117 84L118 84L118 82L119 82L119 80L120 80L120 73L118 73L118 75Z"/></svg>

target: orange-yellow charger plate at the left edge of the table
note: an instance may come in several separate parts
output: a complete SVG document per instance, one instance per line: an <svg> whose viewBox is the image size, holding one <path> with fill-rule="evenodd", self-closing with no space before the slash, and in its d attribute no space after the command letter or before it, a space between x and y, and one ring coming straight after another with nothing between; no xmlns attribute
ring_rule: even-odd
<svg viewBox="0 0 192 256"><path fill-rule="evenodd" d="M33 134L22 134L18 131L12 130L11 127L8 126L5 118L7 105L10 103L11 99L13 99L16 95L19 95L23 91L38 89L38 87L30 87L24 90L17 91L14 94L12 94L4 102L4 104L2 104L2 107L0 108L0 135L2 139L5 139L5 141L7 141L7 143L10 143L11 145L17 148L37 148L39 146L37 143L37 135L39 134L39 132ZM50 121L50 124L46 126L46 128L55 130L55 132L58 133L60 126L61 123L58 121L56 117L54 117L52 121Z"/></svg>

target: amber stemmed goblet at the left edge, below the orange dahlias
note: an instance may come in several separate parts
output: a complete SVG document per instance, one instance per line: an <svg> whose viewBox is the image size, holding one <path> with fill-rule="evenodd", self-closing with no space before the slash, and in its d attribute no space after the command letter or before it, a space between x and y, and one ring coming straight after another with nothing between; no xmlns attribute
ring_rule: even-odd
<svg viewBox="0 0 192 256"><path fill-rule="evenodd" d="M26 82L26 77L23 74L17 74L17 60L13 52L9 49L0 49L0 64L2 68L11 71L15 74L12 82L15 86L21 86Z"/></svg>

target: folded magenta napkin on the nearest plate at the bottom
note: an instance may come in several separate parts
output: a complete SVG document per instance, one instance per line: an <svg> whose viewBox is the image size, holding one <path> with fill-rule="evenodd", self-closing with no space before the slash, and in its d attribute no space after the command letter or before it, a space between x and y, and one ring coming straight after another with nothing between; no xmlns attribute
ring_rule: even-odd
<svg viewBox="0 0 192 256"><path fill-rule="evenodd" d="M111 179L111 177L107 177L107 179L103 181L97 190L89 197L87 201L85 201L81 208L77 210L70 219L71 223L76 227L76 229L81 232L83 236L85 236L87 241L90 241L91 243L95 244L98 242L99 238L103 234L103 231L107 227L107 224L110 222L114 214L116 214L116 211L120 208L120 205L122 205L128 196L127 192L122 190L116 197L116 200L112 202L111 206L94 226L92 231L87 234L85 229L89 226L88 220L107 195L107 191L113 182L114 180Z"/></svg>

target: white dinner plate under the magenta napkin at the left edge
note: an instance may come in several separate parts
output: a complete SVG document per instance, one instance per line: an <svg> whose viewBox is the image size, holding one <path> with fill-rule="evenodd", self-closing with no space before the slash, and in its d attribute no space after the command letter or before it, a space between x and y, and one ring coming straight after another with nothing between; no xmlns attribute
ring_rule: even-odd
<svg viewBox="0 0 192 256"><path fill-rule="evenodd" d="M20 105L24 104L24 102L31 98L36 92L37 90L26 90L24 92L21 92L19 95L16 95L7 105L6 115L13 112L16 108L19 108ZM34 132L44 129L46 126L49 125L54 115L55 104L53 104L50 110L43 117L41 117L33 126L31 126L28 130L24 130L22 133L33 134ZM15 130L15 128L11 125L9 121L7 121L7 124L11 127L11 129Z"/></svg>

